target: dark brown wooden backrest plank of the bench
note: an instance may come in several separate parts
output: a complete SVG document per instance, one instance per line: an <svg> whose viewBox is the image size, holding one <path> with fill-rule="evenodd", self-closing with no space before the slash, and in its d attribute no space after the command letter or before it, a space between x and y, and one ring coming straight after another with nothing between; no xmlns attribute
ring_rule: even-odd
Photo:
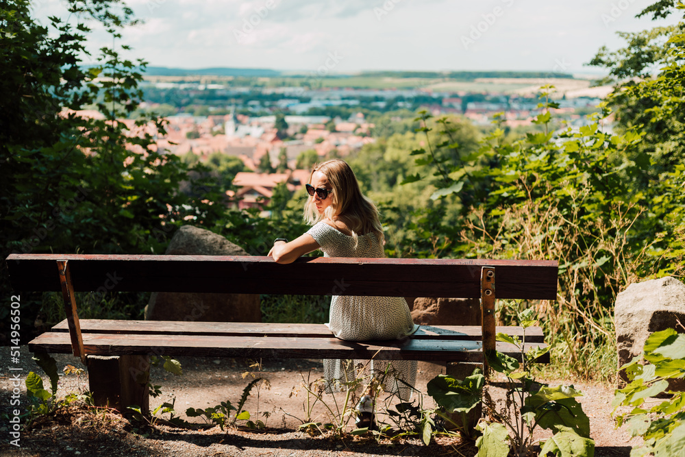
<svg viewBox="0 0 685 457"><path fill-rule="evenodd" d="M495 267L498 298L556 299L558 270L546 260L11 254L12 287L59 291L57 260L69 260L75 291L469 298L480 295L481 267Z"/></svg>

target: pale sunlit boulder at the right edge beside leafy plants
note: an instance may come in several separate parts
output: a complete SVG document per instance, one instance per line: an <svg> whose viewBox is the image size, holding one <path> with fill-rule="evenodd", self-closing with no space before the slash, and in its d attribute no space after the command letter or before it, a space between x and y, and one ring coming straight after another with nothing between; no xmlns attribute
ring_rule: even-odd
<svg viewBox="0 0 685 457"><path fill-rule="evenodd" d="M671 276L630 284L619 293L614 308L619 369L642 353L649 334L667 328L682 332L676 319L685 323L685 284ZM619 376L627 381L625 372ZM684 390L685 380L677 380L677 386ZM671 382L671 388L677 386Z"/></svg>

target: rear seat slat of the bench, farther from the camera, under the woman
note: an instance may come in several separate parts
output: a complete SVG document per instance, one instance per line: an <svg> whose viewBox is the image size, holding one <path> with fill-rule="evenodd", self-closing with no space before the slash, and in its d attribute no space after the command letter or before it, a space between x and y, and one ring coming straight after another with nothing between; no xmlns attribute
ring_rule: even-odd
<svg viewBox="0 0 685 457"><path fill-rule="evenodd" d="M323 324L248 323L248 322L184 322L184 321L127 321L115 319L81 319L82 332L101 334L193 334L216 336L284 336L331 338ZM66 319L52 328L53 332L69 332ZM521 327L497 327L497 332L523 338ZM480 325L421 325L412 336L426 340L482 340ZM527 343L543 343L543 330L530 327L525 330Z"/></svg>

